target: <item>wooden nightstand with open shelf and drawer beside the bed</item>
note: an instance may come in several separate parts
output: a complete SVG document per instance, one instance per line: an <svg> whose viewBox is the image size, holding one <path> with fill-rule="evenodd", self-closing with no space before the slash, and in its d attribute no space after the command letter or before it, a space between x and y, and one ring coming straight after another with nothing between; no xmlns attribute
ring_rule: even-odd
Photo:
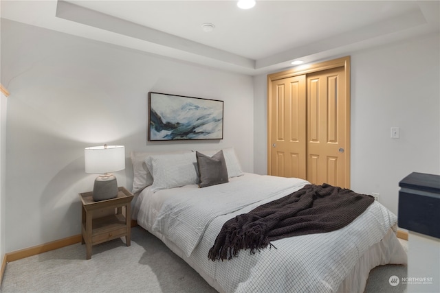
<svg viewBox="0 0 440 293"><path fill-rule="evenodd" d="M112 239L125 236L126 246L131 244L131 200L133 194L125 189L118 187L118 196L110 200L94 201L93 192L79 194L82 208L82 244L87 250L87 259L91 258L91 246L100 244ZM125 207L125 216L122 214L122 207ZM111 215L94 218L94 213L98 214L102 210L113 209Z"/></svg>

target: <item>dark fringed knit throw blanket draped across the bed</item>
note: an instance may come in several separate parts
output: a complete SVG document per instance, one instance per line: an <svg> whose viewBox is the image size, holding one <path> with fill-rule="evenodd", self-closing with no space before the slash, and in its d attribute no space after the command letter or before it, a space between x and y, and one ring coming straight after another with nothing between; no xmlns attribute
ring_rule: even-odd
<svg viewBox="0 0 440 293"><path fill-rule="evenodd" d="M241 249L255 253L284 237L336 231L358 218L373 201L373 196L350 189L306 185L225 222L208 258L232 259Z"/></svg>

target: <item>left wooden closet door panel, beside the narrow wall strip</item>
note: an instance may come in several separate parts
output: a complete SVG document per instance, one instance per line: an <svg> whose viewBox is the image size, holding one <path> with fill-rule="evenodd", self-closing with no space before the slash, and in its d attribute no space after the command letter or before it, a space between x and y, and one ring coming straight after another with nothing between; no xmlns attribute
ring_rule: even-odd
<svg viewBox="0 0 440 293"><path fill-rule="evenodd" d="M272 81L271 175L306 178L306 78Z"/></svg>

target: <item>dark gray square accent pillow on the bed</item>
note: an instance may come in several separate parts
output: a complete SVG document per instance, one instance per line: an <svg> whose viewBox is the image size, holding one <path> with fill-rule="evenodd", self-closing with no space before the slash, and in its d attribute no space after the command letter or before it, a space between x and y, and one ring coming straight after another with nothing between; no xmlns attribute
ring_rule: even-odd
<svg viewBox="0 0 440 293"><path fill-rule="evenodd" d="M208 187L221 183L228 183L228 168L226 167L223 151L214 156L206 156L201 152L195 152L197 167L199 167L199 187Z"/></svg>

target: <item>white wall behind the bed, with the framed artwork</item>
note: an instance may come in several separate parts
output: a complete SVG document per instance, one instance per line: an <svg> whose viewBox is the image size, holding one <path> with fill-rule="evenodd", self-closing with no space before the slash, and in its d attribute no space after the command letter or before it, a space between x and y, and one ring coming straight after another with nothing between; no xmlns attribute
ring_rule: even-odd
<svg viewBox="0 0 440 293"><path fill-rule="evenodd" d="M84 148L126 147L118 185L131 189L131 150L234 147L253 171L252 78L2 19L8 97L6 252L80 234ZM148 91L224 100L224 139L146 141ZM238 115L239 113L239 115Z"/></svg>

